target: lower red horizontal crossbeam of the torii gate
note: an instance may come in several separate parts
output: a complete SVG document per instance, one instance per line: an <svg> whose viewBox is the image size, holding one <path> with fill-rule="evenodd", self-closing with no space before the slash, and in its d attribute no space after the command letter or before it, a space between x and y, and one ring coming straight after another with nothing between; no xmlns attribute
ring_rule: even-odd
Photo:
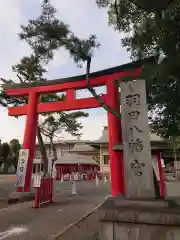
<svg viewBox="0 0 180 240"><path fill-rule="evenodd" d="M104 101L106 101L106 94L102 95ZM100 107L99 103L94 97L76 99L74 101L60 101L60 102L47 102L39 103L37 107L37 113L58 112L58 111L71 111L80 109L89 109ZM27 114L28 105L9 107L9 116L22 116Z"/></svg>

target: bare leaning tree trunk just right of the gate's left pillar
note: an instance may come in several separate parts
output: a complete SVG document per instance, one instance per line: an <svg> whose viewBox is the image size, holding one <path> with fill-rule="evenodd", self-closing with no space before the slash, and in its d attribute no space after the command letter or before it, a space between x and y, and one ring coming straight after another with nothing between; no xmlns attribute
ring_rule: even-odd
<svg viewBox="0 0 180 240"><path fill-rule="evenodd" d="M40 153L41 153L43 166L44 166L43 171L44 171L44 174L47 174L47 172L48 172L48 157L47 157L46 147L44 145L39 126L37 127L37 139L38 139Z"/></svg>

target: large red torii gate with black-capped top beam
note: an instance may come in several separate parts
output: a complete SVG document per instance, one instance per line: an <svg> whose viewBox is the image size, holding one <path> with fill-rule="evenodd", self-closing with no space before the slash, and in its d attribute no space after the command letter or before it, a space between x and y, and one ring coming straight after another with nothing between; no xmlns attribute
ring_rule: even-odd
<svg viewBox="0 0 180 240"><path fill-rule="evenodd" d="M119 92L116 86L116 80L125 75L133 74L134 77L138 76L141 65L142 61L137 61L91 73L89 75L90 84L92 87L106 86L107 93L102 95L103 100L118 113L120 113ZM24 188L18 187L18 191L30 191L38 114L100 107L98 101L94 97L76 99L75 91L77 89L85 89L86 86L87 82L85 81L85 75L36 84L4 85L4 89L8 96L28 96L28 104L8 108L9 116L27 116L22 147L23 149L29 149L29 159L27 163ZM53 92L66 92L65 100L47 103L39 102L40 94ZM111 190L112 195L116 196L119 193L124 193L125 191L122 153L113 151L113 145L115 143L122 142L121 124L115 115L108 112L107 116L109 131Z"/></svg>

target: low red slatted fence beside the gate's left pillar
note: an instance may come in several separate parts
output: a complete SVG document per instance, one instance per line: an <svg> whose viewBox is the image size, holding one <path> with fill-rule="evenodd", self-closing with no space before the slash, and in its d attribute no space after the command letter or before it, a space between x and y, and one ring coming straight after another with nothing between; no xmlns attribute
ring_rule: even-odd
<svg viewBox="0 0 180 240"><path fill-rule="evenodd" d="M53 203L53 178L42 178L40 186L36 187L34 208L45 203Z"/></svg>

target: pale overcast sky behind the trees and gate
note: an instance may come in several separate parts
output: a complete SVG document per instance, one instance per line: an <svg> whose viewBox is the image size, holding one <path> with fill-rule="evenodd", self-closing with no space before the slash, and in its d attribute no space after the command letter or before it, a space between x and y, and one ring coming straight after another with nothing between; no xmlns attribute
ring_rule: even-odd
<svg viewBox="0 0 180 240"><path fill-rule="evenodd" d="M130 61L126 49L121 47L121 36L108 26L107 12L98 9L95 0L51 0L58 9L58 17L71 26L76 35L84 38L95 34L101 44L94 53L91 71L110 68ZM0 76L15 79L12 65L21 57L28 56L28 46L19 40L20 25L29 18L36 18L40 13L38 0L0 0ZM60 50L48 65L48 79L84 74L85 69L77 68L65 50ZM78 95L90 96L87 91ZM82 120L82 139L94 140L100 137L102 127L107 124L106 113L102 109L88 110L89 118ZM7 109L0 107L0 138L10 141L19 138L22 142L25 117L8 117ZM64 138L70 139L67 134Z"/></svg>

